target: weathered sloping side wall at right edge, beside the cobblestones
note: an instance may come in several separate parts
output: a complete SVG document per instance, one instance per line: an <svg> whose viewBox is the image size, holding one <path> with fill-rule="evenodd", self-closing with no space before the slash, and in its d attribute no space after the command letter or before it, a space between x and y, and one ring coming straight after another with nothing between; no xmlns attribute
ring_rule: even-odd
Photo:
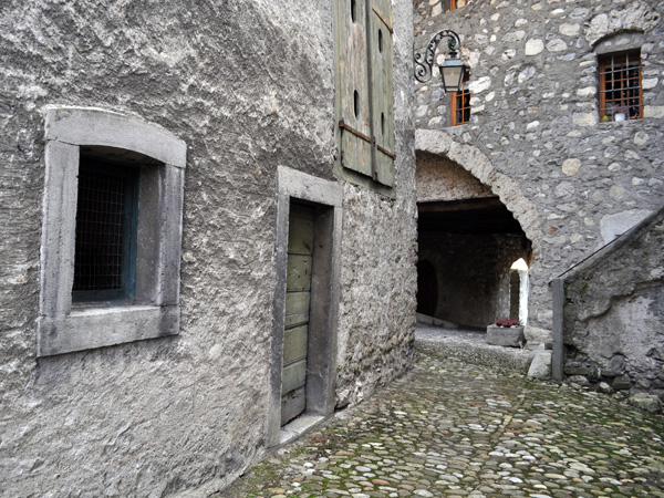
<svg viewBox="0 0 664 498"><path fill-rule="evenodd" d="M664 398L663 247L660 209L564 276L567 375Z"/></svg>

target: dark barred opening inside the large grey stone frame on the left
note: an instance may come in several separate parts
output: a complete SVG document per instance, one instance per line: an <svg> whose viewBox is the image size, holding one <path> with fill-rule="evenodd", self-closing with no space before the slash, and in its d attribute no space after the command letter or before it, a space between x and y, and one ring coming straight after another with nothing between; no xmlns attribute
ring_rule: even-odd
<svg viewBox="0 0 664 498"><path fill-rule="evenodd" d="M134 297L136 169L81 157L74 252L74 301Z"/></svg>

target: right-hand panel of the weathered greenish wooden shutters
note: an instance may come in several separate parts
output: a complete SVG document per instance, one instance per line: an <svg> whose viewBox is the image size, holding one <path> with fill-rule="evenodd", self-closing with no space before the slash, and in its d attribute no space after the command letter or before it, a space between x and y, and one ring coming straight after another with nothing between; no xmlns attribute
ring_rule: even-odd
<svg viewBox="0 0 664 498"><path fill-rule="evenodd" d="M394 186L394 76L391 0L369 0L369 64L372 132L375 139L373 179Z"/></svg>

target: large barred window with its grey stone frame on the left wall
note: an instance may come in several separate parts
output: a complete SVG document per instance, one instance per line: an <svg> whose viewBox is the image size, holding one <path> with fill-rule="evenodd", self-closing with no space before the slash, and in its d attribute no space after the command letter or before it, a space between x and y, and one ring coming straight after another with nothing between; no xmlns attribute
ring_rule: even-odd
<svg viewBox="0 0 664 498"><path fill-rule="evenodd" d="M37 355L177 335L187 145L96 107L48 106L44 132Z"/></svg>

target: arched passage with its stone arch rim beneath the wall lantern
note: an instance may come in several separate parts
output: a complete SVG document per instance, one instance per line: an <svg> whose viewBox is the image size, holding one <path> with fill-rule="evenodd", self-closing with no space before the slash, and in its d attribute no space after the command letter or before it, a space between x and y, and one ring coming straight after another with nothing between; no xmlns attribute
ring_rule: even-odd
<svg viewBox="0 0 664 498"><path fill-rule="evenodd" d="M436 274L434 317L470 328L526 318L521 280L512 302L511 266L532 260L535 206L476 147L443 132L416 137L419 259Z"/></svg>

